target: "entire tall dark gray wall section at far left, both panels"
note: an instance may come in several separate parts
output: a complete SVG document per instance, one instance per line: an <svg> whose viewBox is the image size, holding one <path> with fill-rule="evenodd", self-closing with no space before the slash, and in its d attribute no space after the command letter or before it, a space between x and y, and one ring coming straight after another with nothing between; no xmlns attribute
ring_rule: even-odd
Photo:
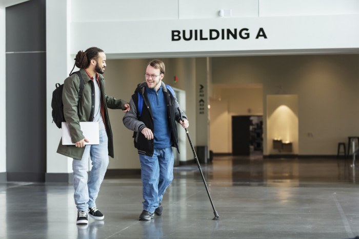
<svg viewBox="0 0 359 239"><path fill-rule="evenodd" d="M45 4L31 0L5 10L8 181L45 181Z"/></svg>

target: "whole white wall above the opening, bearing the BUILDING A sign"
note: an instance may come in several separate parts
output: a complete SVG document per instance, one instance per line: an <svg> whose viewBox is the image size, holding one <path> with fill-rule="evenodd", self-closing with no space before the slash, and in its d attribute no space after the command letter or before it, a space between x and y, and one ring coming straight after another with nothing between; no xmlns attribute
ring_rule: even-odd
<svg viewBox="0 0 359 239"><path fill-rule="evenodd" d="M325 4L322 0L290 1L292 5L287 4L288 1L276 1L277 8L285 6L285 15L276 12L268 1L260 2L259 7L257 1L245 0L206 1L205 7L202 2L189 3L187 0L167 2L157 0L140 5L139 1L103 1L97 5L97 10L106 14L98 18L86 14L89 12L86 9L93 6L88 1L74 2L71 53L93 45L106 46L110 58L359 52L356 24L359 22L359 6L353 0L327 1ZM161 14L149 13L156 12L154 6ZM216 16L215 9L222 8L230 8L236 14ZM307 9L311 9L310 14L303 14ZM121 14L117 14L118 11ZM198 34L203 30L203 37L208 37L210 29L221 32L222 29L239 31L242 28L248 28L248 39L172 41L172 30L186 30L187 34L189 30L197 30ZM267 39L256 39L260 28L264 29ZM87 32L92 29L101 29L101 37L88 37ZM156 37L149 37L150 33L155 33Z"/></svg>

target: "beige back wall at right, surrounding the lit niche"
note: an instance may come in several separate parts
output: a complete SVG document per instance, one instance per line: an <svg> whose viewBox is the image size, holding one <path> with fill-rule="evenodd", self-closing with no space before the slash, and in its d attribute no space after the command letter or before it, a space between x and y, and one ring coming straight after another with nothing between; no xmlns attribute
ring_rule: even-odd
<svg viewBox="0 0 359 239"><path fill-rule="evenodd" d="M338 142L359 135L358 59L355 54L214 57L212 81L263 84L263 96L298 95L298 154L334 155ZM268 154L266 142L264 154Z"/></svg>

